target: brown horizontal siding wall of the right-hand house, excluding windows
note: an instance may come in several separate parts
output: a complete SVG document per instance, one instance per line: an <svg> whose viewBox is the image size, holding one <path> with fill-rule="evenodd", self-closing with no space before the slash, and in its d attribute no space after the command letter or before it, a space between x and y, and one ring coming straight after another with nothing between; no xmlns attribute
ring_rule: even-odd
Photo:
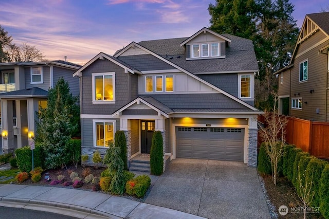
<svg viewBox="0 0 329 219"><path fill-rule="evenodd" d="M322 39L324 39L323 33L321 31L316 32L298 48L297 58L295 58L294 67L291 69L290 98L302 98L303 105L302 109L290 108L290 116L315 121L325 121L326 119L327 55L318 53L318 51L327 45L328 41L299 56L301 52ZM308 60L308 80L299 82L299 63L305 60ZM311 89L314 90L312 94L310 93ZM317 108L320 110L319 114L316 113Z"/></svg>

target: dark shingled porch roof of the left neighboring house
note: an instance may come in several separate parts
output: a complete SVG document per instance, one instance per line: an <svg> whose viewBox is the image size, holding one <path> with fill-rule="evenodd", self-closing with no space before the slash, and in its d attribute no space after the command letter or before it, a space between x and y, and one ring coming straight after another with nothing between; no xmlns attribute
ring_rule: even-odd
<svg viewBox="0 0 329 219"><path fill-rule="evenodd" d="M14 90L12 92L0 94L0 98L27 98L27 97L47 97L47 90L41 89L39 87L32 87L22 90Z"/></svg>

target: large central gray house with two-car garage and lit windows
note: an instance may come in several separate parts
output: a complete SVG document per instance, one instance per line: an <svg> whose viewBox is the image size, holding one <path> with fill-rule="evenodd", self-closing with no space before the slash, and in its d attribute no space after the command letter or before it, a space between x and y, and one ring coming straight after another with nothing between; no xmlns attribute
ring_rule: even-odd
<svg viewBox="0 0 329 219"><path fill-rule="evenodd" d="M104 153L117 130L128 158L150 153L161 131L171 159L234 160L257 165L250 40L203 28L187 38L132 42L100 52L80 78L82 154ZM92 163L90 163L92 164Z"/></svg>

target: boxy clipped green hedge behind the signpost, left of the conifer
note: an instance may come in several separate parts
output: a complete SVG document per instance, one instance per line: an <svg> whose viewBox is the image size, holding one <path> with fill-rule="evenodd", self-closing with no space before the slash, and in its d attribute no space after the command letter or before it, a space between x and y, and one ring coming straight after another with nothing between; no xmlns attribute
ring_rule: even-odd
<svg viewBox="0 0 329 219"><path fill-rule="evenodd" d="M15 150L17 158L17 166L22 172L30 172L32 170L32 152L29 146ZM43 148L39 144L35 144L33 150L34 167L44 167Z"/></svg>

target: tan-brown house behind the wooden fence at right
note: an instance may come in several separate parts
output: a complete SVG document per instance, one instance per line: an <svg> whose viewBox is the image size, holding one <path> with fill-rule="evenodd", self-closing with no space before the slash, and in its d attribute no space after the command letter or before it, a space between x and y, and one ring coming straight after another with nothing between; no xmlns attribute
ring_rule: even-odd
<svg viewBox="0 0 329 219"><path fill-rule="evenodd" d="M306 14L290 63L279 78L280 113L329 121L329 12Z"/></svg>

